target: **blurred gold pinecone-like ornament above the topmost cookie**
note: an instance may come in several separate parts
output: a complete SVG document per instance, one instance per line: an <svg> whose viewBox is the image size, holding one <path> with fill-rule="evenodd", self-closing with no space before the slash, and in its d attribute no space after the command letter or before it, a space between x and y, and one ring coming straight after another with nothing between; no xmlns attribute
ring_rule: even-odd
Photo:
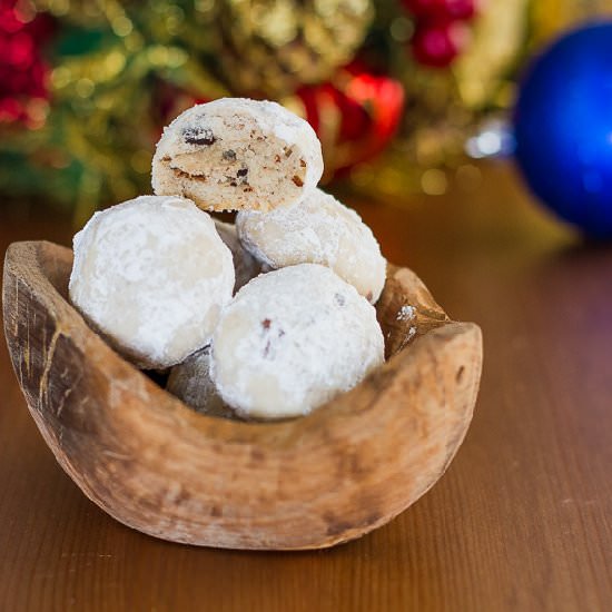
<svg viewBox="0 0 612 612"><path fill-rule="evenodd" d="M279 98L328 79L359 48L371 0L217 0L219 76L234 93Z"/></svg>

